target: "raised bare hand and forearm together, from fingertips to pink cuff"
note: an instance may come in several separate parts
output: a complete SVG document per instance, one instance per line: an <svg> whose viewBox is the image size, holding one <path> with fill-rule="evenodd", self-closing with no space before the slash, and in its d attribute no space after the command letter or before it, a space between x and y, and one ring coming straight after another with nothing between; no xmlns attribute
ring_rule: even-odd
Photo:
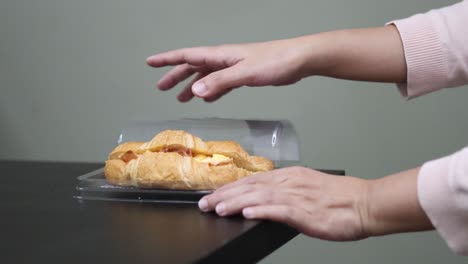
<svg viewBox="0 0 468 264"><path fill-rule="evenodd" d="M312 75L406 82L403 46L394 26L179 49L151 56L147 63L153 67L176 65L159 80L161 90L171 89L195 74L177 97L181 102L194 95L211 102L244 85L287 85Z"/></svg>

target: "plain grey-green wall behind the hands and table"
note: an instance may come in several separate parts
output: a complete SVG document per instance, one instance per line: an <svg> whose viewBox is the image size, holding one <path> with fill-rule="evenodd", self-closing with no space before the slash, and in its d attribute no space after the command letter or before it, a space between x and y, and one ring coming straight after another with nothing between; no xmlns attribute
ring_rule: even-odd
<svg viewBox="0 0 468 264"><path fill-rule="evenodd" d="M405 101L392 84L314 77L180 104L181 87L156 90L167 69L151 69L145 58L187 46L381 26L455 2L3 0L0 159L103 161L130 120L217 116L291 120L304 162L317 168L376 178L418 166L468 143L466 87ZM300 236L263 262L466 260L436 232L425 232L352 243Z"/></svg>

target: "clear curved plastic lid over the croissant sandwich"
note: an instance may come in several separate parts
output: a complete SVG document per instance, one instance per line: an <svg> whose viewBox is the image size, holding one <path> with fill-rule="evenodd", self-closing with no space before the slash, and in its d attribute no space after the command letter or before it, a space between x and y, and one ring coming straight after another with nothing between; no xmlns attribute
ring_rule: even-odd
<svg viewBox="0 0 468 264"><path fill-rule="evenodd" d="M149 141L164 130L185 130L205 141L232 140L249 154L275 162L300 161L296 131L287 120L180 119L168 121L133 121L117 143Z"/></svg>

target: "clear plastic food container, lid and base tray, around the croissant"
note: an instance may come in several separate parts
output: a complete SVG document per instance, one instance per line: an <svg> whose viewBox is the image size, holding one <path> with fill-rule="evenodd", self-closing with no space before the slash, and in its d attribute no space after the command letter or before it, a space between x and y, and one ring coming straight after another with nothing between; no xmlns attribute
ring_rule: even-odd
<svg viewBox="0 0 468 264"><path fill-rule="evenodd" d="M287 120L238 120L221 118L135 121L124 128L116 145L127 141L149 141L164 130L185 130L204 141L233 140L250 155L271 159L275 168L300 164L299 140ZM78 177L79 200L124 200L141 202L197 202L210 191L142 189L112 185L104 168Z"/></svg>

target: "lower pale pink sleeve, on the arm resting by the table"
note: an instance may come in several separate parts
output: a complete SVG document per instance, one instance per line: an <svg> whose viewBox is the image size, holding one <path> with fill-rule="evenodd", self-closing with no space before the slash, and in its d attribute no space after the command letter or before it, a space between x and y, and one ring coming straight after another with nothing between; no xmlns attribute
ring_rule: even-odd
<svg viewBox="0 0 468 264"><path fill-rule="evenodd" d="M449 247L468 255L468 147L421 167L418 198Z"/></svg>

